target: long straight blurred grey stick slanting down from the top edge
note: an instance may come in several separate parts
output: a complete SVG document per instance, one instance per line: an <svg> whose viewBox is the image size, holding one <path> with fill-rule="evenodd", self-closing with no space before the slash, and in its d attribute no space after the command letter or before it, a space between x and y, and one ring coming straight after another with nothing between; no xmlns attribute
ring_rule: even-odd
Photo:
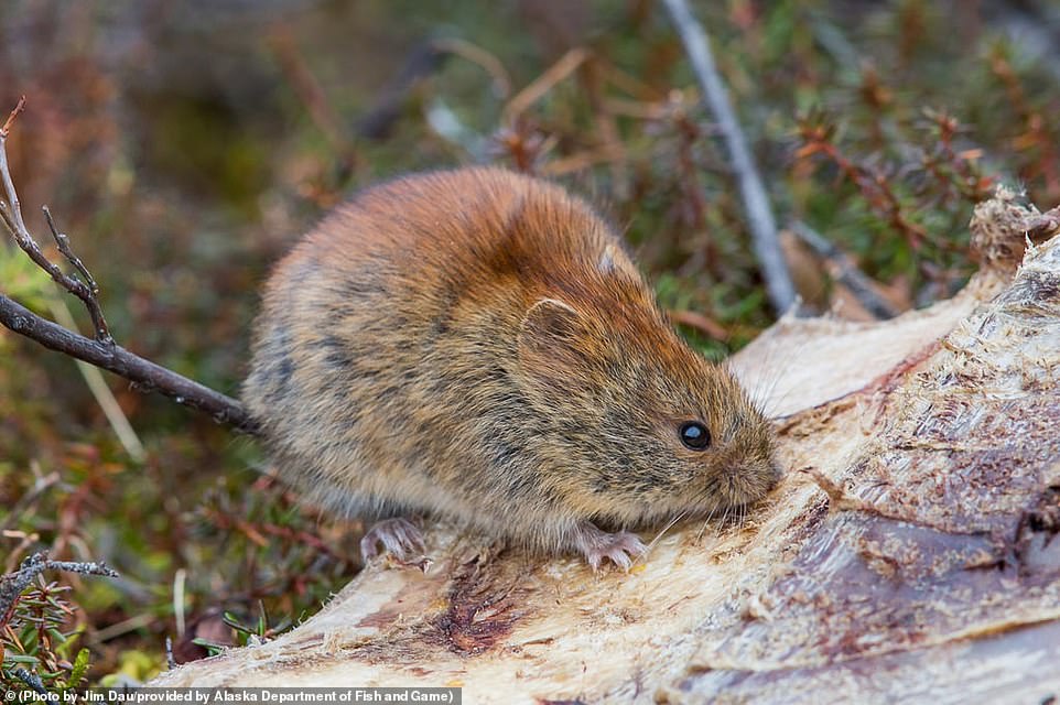
<svg viewBox="0 0 1060 705"><path fill-rule="evenodd" d="M747 149L744 132L736 121L725 84L714 65L706 33L692 17L684 0L663 0L663 3L681 35L692 69L703 89L703 96L728 147L733 170L739 180L739 191L747 210L747 224L750 228L755 254L761 264L769 301L778 313L783 313L794 303L794 285L791 283L791 275L780 249L777 224L774 220L766 188Z"/></svg>

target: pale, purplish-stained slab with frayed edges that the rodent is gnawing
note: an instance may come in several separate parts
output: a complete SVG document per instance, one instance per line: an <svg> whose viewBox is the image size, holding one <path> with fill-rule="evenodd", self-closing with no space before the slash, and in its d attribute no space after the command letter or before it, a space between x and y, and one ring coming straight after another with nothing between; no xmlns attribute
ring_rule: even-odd
<svg viewBox="0 0 1060 705"><path fill-rule="evenodd" d="M630 574L442 523L320 614L155 685L461 685L465 702L1046 702L1060 695L1060 237L1012 196L953 300L785 318L732 365L787 477Z"/></svg>

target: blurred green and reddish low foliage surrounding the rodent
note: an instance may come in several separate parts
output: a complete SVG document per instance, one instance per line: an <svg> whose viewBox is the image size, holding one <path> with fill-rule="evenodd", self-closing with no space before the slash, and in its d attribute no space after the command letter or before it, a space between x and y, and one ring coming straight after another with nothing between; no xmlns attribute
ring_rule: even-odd
<svg viewBox="0 0 1060 705"><path fill-rule="evenodd" d="M973 271L965 226L995 183L1060 200L1051 4L695 10L779 220L824 234L907 305ZM662 304L710 323L684 332L715 358L772 319L724 147L649 0L11 0L0 108L20 94L8 147L31 228L46 232L47 203L122 345L227 393L270 263L353 189L410 170L488 161L587 195ZM46 285L0 247L0 290L41 308ZM357 523L300 508L250 441L110 381L142 464L71 360L0 332L3 570L47 549L123 576L57 577L74 597L31 588L6 658L60 686L85 646L94 682L142 680L165 636L177 661L269 638L356 572ZM42 589L79 609L34 617Z"/></svg>

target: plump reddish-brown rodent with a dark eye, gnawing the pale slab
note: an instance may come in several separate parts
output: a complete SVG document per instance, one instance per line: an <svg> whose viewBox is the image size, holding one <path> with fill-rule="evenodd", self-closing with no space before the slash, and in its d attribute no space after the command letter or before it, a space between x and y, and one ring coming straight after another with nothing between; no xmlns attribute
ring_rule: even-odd
<svg viewBox="0 0 1060 705"><path fill-rule="evenodd" d="M768 422L593 209L500 169L398 178L324 219L266 288L244 399L316 503L447 516L594 568L643 551L627 528L778 478ZM422 547L401 519L366 557L377 541Z"/></svg>

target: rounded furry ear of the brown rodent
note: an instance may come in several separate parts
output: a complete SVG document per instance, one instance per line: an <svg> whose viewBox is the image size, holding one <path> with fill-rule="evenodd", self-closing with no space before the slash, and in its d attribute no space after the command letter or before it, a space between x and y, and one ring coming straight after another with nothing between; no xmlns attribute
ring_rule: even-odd
<svg viewBox="0 0 1060 705"><path fill-rule="evenodd" d="M573 306L542 299L527 310L519 329L519 366L528 380L560 389L584 370L590 341L585 322Z"/></svg>

